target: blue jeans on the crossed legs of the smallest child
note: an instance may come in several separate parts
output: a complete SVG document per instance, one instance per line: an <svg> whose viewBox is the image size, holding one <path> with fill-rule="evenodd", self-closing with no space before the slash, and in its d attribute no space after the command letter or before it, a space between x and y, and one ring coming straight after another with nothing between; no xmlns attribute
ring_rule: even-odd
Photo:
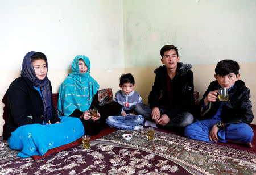
<svg viewBox="0 0 256 175"><path fill-rule="evenodd" d="M121 130L134 130L135 126L138 126L144 122L142 115L127 115L127 116L109 116L106 119L106 123L109 126L121 129Z"/></svg>

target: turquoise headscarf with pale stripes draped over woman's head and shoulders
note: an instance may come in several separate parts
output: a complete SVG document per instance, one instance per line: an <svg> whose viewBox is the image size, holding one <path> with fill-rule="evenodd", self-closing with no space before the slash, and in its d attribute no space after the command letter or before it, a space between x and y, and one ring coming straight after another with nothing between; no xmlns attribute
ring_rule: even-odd
<svg viewBox="0 0 256 175"><path fill-rule="evenodd" d="M83 59L87 65L86 73L79 73L79 59ZM89 110L94 95L100 85L90 76L90 60L84 55L78 55L72 62L72 73L60 86L58 111L60 116L69 116L75 109L79 111Z"/></svg>

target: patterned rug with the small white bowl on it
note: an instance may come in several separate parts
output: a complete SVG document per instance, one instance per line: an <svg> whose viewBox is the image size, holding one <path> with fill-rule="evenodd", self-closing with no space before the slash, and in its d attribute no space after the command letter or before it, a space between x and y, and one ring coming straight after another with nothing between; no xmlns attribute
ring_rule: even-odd
<svg viewBox="0 0 256 175"><path fill-rule="evenodd" d="M133 135L131 141L122 139L124 133ZM99 145L121 145L166 157L181 166L203 174L254 174L256 155L205 141L155 131L155 139L148 140L146 130L118 130L92 141Z"/></svg>

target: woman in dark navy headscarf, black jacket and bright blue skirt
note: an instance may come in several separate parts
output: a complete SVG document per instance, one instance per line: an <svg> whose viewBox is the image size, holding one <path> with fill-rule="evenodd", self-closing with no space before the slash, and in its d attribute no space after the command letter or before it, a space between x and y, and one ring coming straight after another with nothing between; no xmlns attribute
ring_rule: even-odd
<svg viewBox="0 0 256 175"><path fill-rule="evenodd" d="M6 92L8 143L11 149L21 150L17 156L42 156L48 149L71 143L84 134L80 120L57 116L47 72L46 55L28 52L21 77L16 78Z"/></svg>

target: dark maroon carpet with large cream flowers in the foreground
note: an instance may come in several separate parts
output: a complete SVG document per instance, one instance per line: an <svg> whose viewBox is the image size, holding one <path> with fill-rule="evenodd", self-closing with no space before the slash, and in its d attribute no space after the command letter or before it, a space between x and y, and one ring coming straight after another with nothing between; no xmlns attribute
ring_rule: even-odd
<svg viewBox="0 0 256 175"><path fill-rule="evenodd" d="M113 145L76 145L44 159L8 160L0 174L191 174L189 169L154 153Z"/></svg>

